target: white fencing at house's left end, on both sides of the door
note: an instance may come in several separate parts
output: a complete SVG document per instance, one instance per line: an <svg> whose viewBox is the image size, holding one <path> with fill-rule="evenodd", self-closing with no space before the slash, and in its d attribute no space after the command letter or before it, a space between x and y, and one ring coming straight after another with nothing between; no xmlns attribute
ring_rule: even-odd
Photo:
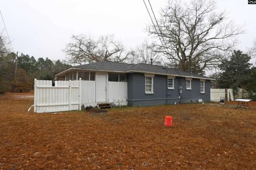
<svg viewBox="0 0 256 170"><path fill-rule="evenodd" d="M97 106L96 82L88 80L55 81L35 79L34 112L81 110ZM107 102L127 105L127 82L108 82Z"/></svg>

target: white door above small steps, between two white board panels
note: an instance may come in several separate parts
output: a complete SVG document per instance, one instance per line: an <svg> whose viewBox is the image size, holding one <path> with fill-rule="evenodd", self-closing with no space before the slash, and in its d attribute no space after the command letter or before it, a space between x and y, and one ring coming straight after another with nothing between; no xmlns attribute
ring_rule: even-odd
<svg viewBox="0 0 256 170"><path fill-rule="evenodd" d="M107 101L107 75L96 75L96 102Z"/></svg>

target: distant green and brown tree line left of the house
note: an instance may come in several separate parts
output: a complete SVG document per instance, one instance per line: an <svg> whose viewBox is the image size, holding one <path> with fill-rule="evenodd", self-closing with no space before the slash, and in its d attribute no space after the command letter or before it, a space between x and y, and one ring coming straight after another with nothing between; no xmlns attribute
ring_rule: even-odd
<svg viewBox="0 0 256 170"><path fill-rule="evenodd" d="M5 92L27 92L33 88L34 78L53 80L54 75L70 67L60 60L38 58L20 54L15 74L15 53L7 51L0 55L0 94Z"/></svg>

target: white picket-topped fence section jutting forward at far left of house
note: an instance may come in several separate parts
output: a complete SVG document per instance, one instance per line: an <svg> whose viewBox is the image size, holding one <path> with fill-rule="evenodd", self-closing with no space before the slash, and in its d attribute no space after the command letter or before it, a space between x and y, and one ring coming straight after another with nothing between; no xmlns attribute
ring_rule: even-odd
<svg viewBox="0 0 256 170"><path fill-rule="evenodd" d="M34 112L81 110L81 80L37 80L34 85Z"/></svg>

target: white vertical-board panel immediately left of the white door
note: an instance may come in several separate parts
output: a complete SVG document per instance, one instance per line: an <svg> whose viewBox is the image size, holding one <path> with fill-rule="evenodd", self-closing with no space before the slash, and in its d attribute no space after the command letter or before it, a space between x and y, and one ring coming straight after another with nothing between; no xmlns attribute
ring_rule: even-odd
<svg viewBox="0 0 256 170"><path fill-rule="evenodd" d="M81 103L95 103L96 84L95 81L82 80L81 83Z"/></svg>

